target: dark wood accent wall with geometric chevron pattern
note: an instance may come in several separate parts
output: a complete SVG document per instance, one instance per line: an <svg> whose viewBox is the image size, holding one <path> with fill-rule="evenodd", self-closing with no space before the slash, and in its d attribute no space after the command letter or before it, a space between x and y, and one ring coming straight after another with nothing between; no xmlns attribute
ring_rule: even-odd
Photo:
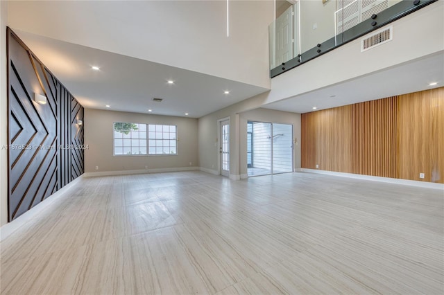
<svg viewBox="0 0 444 295"><path fill-rule="evenodd" d="M82 175L83 159L83 107L8 28L8 220Z"/></svg>

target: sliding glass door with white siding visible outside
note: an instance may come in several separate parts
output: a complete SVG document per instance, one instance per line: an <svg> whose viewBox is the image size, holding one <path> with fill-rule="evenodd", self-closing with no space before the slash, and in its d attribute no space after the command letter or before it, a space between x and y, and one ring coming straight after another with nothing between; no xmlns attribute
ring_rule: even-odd
<svg viewBox="0 0 444 295"><path fill-rule="evenodd" d="M247 123L248 177L293 172L293 125Z"/></svg>

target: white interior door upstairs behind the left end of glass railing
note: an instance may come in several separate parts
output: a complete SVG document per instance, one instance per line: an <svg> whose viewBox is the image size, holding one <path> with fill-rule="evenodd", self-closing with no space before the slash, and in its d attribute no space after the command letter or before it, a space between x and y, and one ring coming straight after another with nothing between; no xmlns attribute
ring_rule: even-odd
<svg viewBox="0 0 444 295"><path fill-rule="evenodd" d="M276 65L293 58L293 6L276 19Z"/></svg>

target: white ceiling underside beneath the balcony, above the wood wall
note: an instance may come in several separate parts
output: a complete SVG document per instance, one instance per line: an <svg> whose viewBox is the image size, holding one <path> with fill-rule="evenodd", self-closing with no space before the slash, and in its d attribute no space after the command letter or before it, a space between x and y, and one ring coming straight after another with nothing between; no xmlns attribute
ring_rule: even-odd
<svg viewBox="0 0 444 295"><path fill-rule="evenodd" d="M431 82L438 82L429 86ZM266 109L307 113L444 86L444 51L330 87L272 102Z"/></svg>

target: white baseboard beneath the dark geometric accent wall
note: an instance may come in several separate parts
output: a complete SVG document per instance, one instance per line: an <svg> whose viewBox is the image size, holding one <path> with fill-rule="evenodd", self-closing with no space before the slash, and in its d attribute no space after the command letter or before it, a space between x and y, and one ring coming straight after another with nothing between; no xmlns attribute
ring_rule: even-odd
<svg viewBox="0 0 444 295"><path fill-rule="evenodd" d="M53 204L60 199L60 197L65 194L70 188L75 186L80 179L84 177L83 175L80 175L80 177L77 177L73 181L71 181L66 186L60 188L56 193L53 193L53 195L49 196L47 199L44 199L39 204L35 205L33 208L29 209L19 217L17 217L15 220L12 220L12 222L8 222L7 224L4 224L0 228L0 242L4 239L8 238L12 233L17 231L20 227L22 227L24 224L29 222L30 220L35 219L36 217L39 217L42 213L42 211L45 211L49 209Z"/></svg>

